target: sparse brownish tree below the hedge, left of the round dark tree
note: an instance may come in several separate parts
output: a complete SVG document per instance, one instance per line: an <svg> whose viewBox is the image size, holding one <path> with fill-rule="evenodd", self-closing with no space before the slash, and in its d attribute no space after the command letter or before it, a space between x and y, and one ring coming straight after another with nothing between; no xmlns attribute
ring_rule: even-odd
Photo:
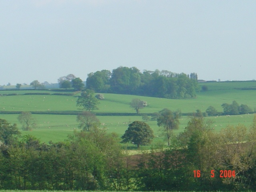
<svg viewBox="0 0 256 192"><path fill-rule="evenodd" d="M76 118L77 122L79 122L79 128L84 131L90 131L90 129L94 126L98 127L100 125L100 121L96 117L95 114L84 111L81 115L78 115Z"/></svg>

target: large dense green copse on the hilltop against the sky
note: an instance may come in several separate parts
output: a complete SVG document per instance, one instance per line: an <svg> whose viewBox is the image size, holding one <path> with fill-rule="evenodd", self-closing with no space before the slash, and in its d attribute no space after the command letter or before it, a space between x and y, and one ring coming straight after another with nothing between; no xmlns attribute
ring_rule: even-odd
<svg viewBox="0 0 256 192"><path fill-rule="evenodd" d="M102 93L136 94L160 98L194 98L197 74L178 74L167 70L140 72L136 67L118 67L88 74L86 88Z"/></svg>

